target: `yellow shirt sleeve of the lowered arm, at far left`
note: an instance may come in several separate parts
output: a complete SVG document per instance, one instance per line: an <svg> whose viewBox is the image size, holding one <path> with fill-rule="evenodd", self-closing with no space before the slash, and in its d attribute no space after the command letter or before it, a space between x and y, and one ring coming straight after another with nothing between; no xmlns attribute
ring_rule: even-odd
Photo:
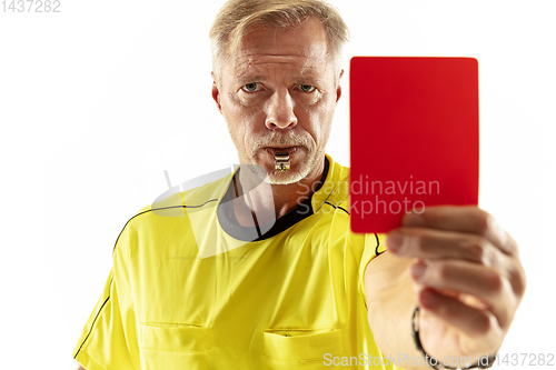
<svg viewBox="0 0 556 370"><path fill-rule="evenodd" d="M125 231L105 290L81 332L73 358L87 370L140 369Z"/></svg>

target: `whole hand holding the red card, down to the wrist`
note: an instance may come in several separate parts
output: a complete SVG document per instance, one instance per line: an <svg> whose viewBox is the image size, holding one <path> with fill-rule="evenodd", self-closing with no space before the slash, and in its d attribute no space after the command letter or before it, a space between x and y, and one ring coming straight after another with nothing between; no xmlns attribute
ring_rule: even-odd
<svg viewBox="0 0 556 370"><path fill-rule="evenodd" d="M388 250L414 258L423 348L437 359L496 354L526 287L517 243L476 207L429 207L404 218Z"/></svg>

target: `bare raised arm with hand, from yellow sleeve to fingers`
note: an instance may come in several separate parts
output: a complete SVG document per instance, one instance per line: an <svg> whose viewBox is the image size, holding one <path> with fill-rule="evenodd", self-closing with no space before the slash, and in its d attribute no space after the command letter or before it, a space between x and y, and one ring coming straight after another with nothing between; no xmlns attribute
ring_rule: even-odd
<svg viewBox="0 0 556 370"><path fill-rule="evenodd" d="M418 337L440 364L465 368L496 354L526 280L516 242L494 218L476 207L430 207L406 216L386 244L365 274L369 324L383 353L406 369L431 369L411 330L419 307Z"/></svg>

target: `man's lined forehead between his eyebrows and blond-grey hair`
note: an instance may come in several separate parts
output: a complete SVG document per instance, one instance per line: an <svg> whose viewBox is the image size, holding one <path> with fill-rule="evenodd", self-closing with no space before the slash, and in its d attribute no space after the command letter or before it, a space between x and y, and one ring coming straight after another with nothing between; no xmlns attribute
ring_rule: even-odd
<svg viewBox="0 0 556 370"><path fill-rule="evenodd" d="M329 50L326 29L315 18L289 29L257 26L247 30L228 67L236 78L270 70L321 74L331 62Z"/></svg>

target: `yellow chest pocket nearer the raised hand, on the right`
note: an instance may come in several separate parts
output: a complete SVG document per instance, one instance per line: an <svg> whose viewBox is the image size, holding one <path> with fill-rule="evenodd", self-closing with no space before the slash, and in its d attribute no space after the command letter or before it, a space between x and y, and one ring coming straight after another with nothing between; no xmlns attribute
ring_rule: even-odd
<svg viewBox="0 0 556 370"><path fill-rule="evenodd" d="M267 330L262 347L269 369L322 369L325 354L344 353L340 329Z"/></svg>

